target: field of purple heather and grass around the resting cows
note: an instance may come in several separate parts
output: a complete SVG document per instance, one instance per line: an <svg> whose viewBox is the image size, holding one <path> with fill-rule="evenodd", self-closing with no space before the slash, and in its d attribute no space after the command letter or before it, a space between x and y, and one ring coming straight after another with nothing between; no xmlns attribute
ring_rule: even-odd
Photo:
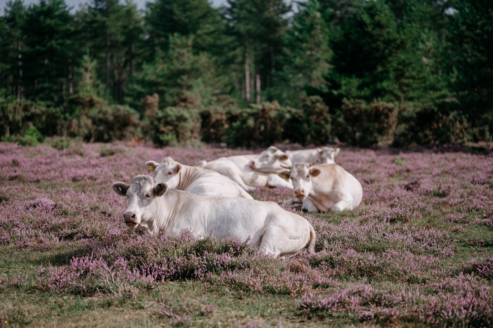
<svg viewBox="0 0 493 328"><path fill-rule="evenodd" d="M0 327L493 326L491 152L343 148L361 205L300 212L316 254L286 261L123 224L111 184L148 174L145 161L248 152L0 143Z"/></svg>

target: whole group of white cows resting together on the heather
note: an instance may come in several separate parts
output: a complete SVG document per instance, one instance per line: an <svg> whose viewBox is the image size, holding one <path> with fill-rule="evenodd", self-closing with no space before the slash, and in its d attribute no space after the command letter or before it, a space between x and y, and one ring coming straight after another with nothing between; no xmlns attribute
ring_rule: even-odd
<svg viewBox="0 0 493 328"><path fill-rule="evenodd" d="M308 212L354 209L363 189L335 164L338 153L339 148L331 147L282 151L271 146L260 154L219 157L195 166L166 157L145 163L155 178L139 175L112 188L127 197L125 224L140 225L148 235L162 229L178 236L188 229L199 238L248 240L266 254L289 258L307 244L314 252L312 225L279 204L254 200L248 191L258 186L292 188L293 198L283 205Z"/></svg>

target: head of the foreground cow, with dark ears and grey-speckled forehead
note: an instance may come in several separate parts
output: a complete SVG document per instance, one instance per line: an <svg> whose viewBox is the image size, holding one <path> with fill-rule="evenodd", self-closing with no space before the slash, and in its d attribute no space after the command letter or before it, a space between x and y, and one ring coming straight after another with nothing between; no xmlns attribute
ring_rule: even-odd
<svg viewBox="0 0 493 328"><path fill-rule="evenodd" d="M155 197L162 196L166 193L168 186L164 183L156 183L149 176L136 176L130 184L125 182L115 182L111 186L113 191L120 196L127 196L127 209L123 212L123 220L128 227L135 228L147 221L149 211Z"/></svg>

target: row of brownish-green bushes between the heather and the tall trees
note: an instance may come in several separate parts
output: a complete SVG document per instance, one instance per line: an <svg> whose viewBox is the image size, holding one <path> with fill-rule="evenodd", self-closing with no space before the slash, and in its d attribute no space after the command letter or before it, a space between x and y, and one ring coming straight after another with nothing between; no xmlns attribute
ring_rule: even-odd
<svg viewBox="0 0 493 328"><path fill-rule="evenodd" d="M66 108L0 97L0 135L2 140L30 145L43 137L62 136L88 142L138 138L161 146L206 142L252 148L336 142L406 147L463 143L477 139L478 134L471 135L466 118L447 103L417 108L352 99L344 100L340 109L329 109L320 97L311 96L298 109L276 101L240 109L226 98L207 108L188 107L178 104L162 109L157 94L143 100L140 113L91 94L73 96ZM490 141L488 132L483 131L483 140Z"/></svg>

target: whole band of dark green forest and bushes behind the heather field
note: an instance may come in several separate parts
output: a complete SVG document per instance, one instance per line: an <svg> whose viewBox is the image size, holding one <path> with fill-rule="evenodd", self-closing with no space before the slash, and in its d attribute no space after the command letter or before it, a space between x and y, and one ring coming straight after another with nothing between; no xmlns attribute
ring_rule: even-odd
<svg viewBox="0 0 493 328"><path fill-rule="evenodd" d="M492 141L491 0L9 0L0 137Z"/></svg>

